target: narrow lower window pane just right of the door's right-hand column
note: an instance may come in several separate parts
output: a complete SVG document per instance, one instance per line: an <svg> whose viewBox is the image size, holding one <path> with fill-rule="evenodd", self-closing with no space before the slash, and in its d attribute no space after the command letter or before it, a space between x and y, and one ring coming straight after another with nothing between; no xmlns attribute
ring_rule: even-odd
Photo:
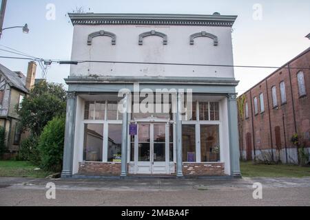
<svg viewBox="0 0 310 220"><path fill-rule="evenodd" d="M183 162L196 162L195 125L183 124Z"/></svg>

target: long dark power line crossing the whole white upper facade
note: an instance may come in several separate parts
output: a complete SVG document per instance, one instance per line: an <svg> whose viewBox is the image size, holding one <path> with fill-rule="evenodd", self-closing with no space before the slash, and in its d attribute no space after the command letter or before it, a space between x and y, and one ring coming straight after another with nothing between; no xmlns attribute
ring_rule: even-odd
<svg viewBox="0 0 310 220"><path fill-rule="evenodd" d="M1 49L0 49L1 50ZM12 56L0 56L0 58L12 58L12 59L25 59L21 57ZM140 64L140 65L180 65L180 66L198 66L198 67L236 67L236 68L262 68L262 69L288 69L289 67L272 67L272 66L255 66L255 65L218 65L218 64L194 64L194 63L152 63L152 62L131 62L131 61L62 61L54 59L43 58L28 58L32 61L50 61L51 63L66 63L66 64L78 64L78 63L114 63L114 64ZM290 69L310 69L310 67L290 67Z"/></svg>

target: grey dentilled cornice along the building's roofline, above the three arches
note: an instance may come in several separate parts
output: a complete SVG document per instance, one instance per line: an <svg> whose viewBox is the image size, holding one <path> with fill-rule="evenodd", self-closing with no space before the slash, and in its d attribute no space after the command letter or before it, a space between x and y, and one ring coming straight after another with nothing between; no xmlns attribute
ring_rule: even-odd
<svg viewBox="0 0 310 220"><path fill-rule="evenodd" d="M237 16L202 14L75 14L73 25L199 25L232 27Z"/></svg>

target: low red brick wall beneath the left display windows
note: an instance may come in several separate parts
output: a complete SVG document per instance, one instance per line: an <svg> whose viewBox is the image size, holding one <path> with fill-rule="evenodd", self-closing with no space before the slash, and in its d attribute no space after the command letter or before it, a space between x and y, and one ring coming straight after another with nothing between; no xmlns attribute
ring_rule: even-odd
<svg viewBox="0 0 310 220"><path fill-rule="evenodd" d="M81 162L79 174L84 175L121 175L121 163Z"/></svg>

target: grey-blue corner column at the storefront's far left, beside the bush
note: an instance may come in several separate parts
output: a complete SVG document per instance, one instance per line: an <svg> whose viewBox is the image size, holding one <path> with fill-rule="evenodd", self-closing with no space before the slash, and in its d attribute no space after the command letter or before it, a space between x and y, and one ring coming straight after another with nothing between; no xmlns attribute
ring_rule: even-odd
<svg viewBox="0 0 310 220"><path fill-rule="evenodd" d="M72 176L75 115L76 94L74 92L68 92L67 113L65 117L65 147L63 149L63 171L61 173L61 178Z"/></svg>

